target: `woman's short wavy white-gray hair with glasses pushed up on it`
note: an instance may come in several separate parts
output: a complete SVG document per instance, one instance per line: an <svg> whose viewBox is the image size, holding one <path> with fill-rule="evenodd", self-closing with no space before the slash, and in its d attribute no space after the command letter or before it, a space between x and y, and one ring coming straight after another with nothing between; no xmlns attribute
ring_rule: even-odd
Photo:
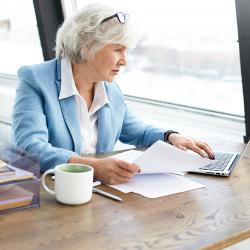
<svg viewBox="0 0 250 250"><path fill-rule="evenodd" d="M121 44L134 48L136 35L129 19L121 24L117 18L102 21L117 13L100 4L90 4L66 19L57 31L56 57L79 63L93 58L107 44Z"/></svg>

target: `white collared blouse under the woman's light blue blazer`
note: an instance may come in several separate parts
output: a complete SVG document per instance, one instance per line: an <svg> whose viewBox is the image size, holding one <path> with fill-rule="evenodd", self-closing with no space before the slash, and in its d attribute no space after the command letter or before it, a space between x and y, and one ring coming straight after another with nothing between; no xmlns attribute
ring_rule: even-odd
<svg viewBox="0 0 250 250"><path fill-rule="evenodd" d="M81 129L81 154L95 154L97 144L97 113L108 103L104 82L95 84L93 103L88 111L85 99L79 94L72 74L71 63L67 59L61 61L61 90L59 100L75 96L77 116Z"/></svg>

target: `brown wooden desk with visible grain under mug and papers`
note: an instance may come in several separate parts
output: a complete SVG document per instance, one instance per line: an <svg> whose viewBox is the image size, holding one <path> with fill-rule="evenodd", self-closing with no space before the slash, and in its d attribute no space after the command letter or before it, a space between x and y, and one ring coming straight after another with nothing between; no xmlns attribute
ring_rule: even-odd
<svg viewBox="0 0 250 250"><path fill-rule="evenodd" d="M243 144L213 143L242 150ZM250 154L250 152L248 152ZM250 237L250 161L229 178L188 175L204 189L123 203L93 194L82 206L41 191L41 207L0 216L1 249L221 249Z"/></svg>

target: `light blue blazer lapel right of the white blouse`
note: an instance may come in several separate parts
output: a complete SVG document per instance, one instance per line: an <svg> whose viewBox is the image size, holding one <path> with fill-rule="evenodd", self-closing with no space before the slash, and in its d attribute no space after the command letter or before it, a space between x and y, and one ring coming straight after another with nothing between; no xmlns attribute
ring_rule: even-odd
<svg viewBox="0 0 250 250"><path fill-rule="evenodd" d="M110 151L110 139L111 139L111 111L108 104L105 104L98 111L98 136L96 152L103 153Z"/></svg>

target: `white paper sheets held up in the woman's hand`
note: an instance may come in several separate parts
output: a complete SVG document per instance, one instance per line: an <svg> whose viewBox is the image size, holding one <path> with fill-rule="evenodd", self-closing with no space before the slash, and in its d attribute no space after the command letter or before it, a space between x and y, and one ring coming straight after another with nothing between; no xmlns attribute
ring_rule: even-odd
<svg viewBox="0 0 250 250"><path fill-rule="evenodd" d="M157 141L145 152L130 150L112 157L134 162L141 168L141 174L181 173L197 170L213 162L163 141Z"/></svg>

